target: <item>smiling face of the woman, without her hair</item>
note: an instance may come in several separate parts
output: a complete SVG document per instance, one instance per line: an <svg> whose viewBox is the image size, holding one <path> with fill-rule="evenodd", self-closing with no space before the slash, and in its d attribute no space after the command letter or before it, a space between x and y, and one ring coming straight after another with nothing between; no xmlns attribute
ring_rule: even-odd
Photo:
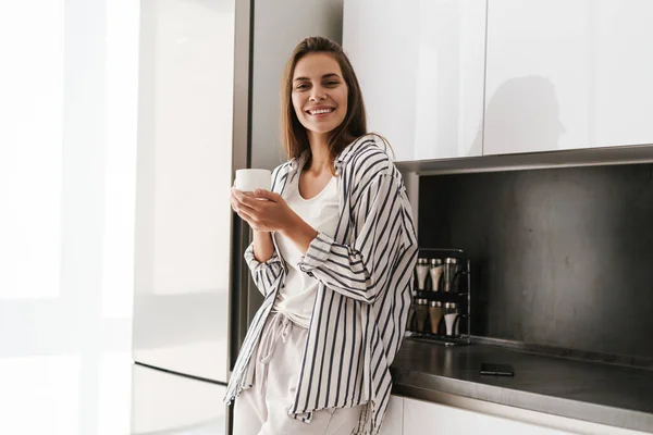
<svg viewBox="0 0 653 435"><path fill-rule="evenodd" d="M297 62L293 74L293 108L304 127L329 133L347 114L347 85L335 59L309 53Z"/></svg>

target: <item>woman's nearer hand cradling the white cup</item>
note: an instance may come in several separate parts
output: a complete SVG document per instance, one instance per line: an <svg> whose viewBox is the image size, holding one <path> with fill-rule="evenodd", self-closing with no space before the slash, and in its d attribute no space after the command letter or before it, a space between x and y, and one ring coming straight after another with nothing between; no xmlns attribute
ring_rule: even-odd
<svg viewBox="0 0 653 435"><path fill-rule="evenodd" d="M297 217L281 195L270 190L245 194L232 187L232 207L252 229L261 232L284 232Z"/></svg>

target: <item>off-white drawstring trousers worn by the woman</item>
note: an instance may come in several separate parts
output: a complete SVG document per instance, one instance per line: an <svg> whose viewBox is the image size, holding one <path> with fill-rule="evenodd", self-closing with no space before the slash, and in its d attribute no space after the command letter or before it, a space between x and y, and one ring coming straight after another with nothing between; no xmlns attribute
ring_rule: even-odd
<svg viewBox="0 0 653 435"><path fill-rule="evenodd" d="M349 435L357 427L362 406L315 411L310 423L288 414L307 335L282 313L270 314L251 357L252 387L235 401L234 435Z"/></svg>

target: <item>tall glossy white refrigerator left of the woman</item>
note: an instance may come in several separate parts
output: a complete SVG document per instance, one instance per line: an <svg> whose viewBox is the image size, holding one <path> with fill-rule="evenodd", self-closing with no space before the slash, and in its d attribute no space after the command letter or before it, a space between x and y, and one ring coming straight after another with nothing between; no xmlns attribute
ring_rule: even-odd
<svg viewBox="0 0 653 435"><path fill-rule="evenodd" d="M247 289L229 202L234 165L246 164L234 151L235 9L141 0L134 435L229 433L222 397L243 311L230 289Z"/></svg>

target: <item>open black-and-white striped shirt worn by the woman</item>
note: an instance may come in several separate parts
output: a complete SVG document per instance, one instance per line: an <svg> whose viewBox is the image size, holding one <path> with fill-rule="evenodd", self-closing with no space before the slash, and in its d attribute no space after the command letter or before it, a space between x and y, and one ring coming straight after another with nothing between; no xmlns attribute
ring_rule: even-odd
<svg viewBox="0 0 653 435"><path fill-rule="evenodd" d="M286 187L298 183L305 156L273 171L272 191L284 197ZM312 411L367 403L355 434L375 435L390 400L390 364L407 322L417 235L402 174L383 141L364 136L334 165L342 177L336 231L333 238L318 233L299 262L320 285L288 414L310 422ZM259 263L252 244L245 260L264 300L232 372L229 403L251 386L249 360L286 273L276 247Z"/></svg>

